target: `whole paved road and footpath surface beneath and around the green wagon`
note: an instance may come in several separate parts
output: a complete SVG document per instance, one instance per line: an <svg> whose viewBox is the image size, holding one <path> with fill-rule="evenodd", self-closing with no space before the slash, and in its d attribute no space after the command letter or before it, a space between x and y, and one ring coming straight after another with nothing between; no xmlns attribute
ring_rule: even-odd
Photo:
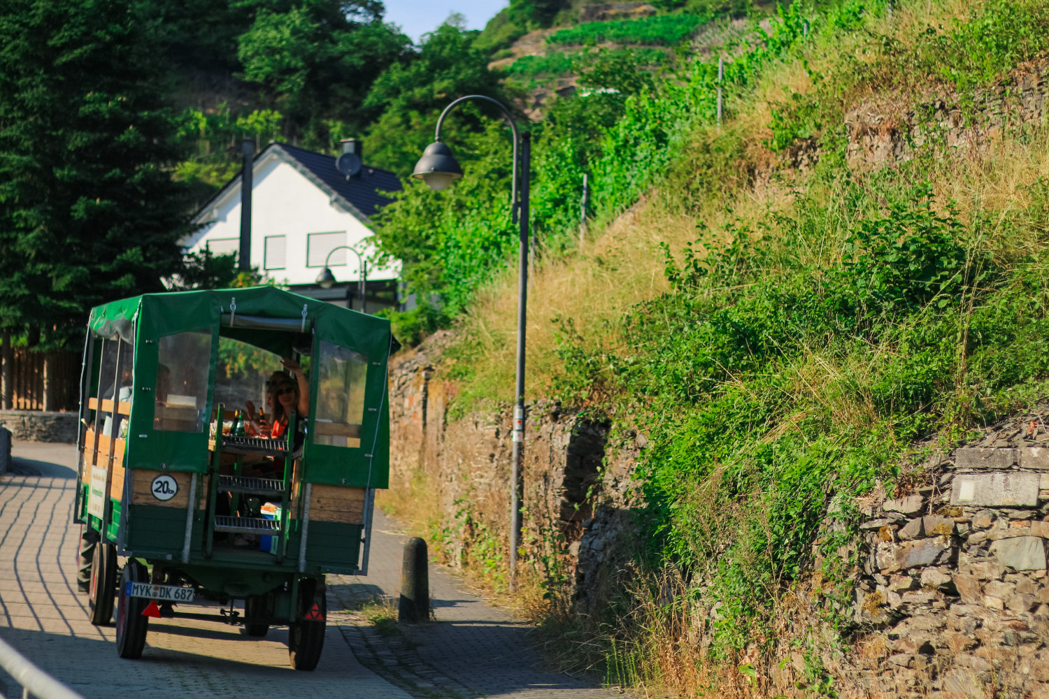
<svg viewBox="0 0 1049 699"><path fill-rule="evenodd" d="M77 593L79 527L71 524L74 450L16 444L23 474L0 477L0 638L88 699L167 697L361 697L363 699L597 699L615 692L543 672L526 625L485 604L431 566L436 624L382 637L350 610L370 596L397 598L403 537L377 518L366 578L329 576L324 653L313 673L287 663L287 629L264 638L187 619L150 621L140 660L121 660L110 627L87 621ZM185 607L181 607L185 609ZM204 608L194 611L211 611ZM0 693L4 680L0 673ZM6 696L18 696L7 686Z"/></svg>

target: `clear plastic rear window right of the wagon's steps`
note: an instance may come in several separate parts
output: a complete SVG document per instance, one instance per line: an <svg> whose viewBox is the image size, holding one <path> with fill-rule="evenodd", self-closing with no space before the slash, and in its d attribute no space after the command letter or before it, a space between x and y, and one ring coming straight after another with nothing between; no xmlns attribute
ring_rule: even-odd
<svg viewBox="0 0 1049 699"><path fill-rule="evenodd" d="M360 446L368 357L322 341L315 366L318 375L317 414L312 420L314 443Z"/></svg>

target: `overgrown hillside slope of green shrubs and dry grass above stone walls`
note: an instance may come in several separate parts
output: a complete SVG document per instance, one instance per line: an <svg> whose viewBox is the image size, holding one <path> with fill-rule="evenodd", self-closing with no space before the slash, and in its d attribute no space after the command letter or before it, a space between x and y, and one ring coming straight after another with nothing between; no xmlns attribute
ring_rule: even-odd
<svg viewBox="0 0 1049 699"><path fill-rule="evenodd" d="M527 394L609 420L609 443L644 435L636 497L607 503L638 517L633 582L606 562L611 597L582 617L547 581L560 657L621 681L772 696L755 687L794 652L806 696L841 689L814 649L854 632L856 498L907 492L927 452L1049 389L1049 7L852 0L779 22L802 18L729 81L721 128L680 82L630 103L681 135L635 144L654 180L605 170L618 204L536 263ZM509 402L515 305L508 272L462 321L436 366L452 417Z"/></svg>

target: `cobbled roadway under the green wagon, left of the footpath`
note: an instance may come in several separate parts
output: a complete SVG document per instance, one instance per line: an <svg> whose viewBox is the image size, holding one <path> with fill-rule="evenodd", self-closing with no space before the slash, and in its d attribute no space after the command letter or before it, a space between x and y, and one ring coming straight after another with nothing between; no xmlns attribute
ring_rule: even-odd
<svg viewBox="0 0 1049 699"><path fill-rule="evenodd" d="M351 621L337 614L314 672L292 670L286 627L254 638L239 628L181 618L151 619L142 659L122 660L113 627L90 625L87 596L77 593L73 447L16 444L14 456L17 472L41 475L0 476L0 638L70 689L88 699L408 699L357 661L340 629ZM0 694L21 696L2 672Z"/></svg>

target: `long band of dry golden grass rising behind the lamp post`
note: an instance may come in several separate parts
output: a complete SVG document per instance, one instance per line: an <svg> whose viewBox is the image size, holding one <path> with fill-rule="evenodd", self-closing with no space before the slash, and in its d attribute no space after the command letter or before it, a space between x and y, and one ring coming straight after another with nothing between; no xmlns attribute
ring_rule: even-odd
<svg viewBox="0 0 1049 699"><path fill-rule="evenodd" d="M772 212L791 211L792 190L804 182L804 174L785 173L787 181L761 175L777 162L777 157L764 146L771 133L768 124L775 105L789 100L792 93L808 93L814 86L812 75L829 74L842 56L873 62L872 36L884 34L902 43L913 42L929 25L949 26L952 18L964 17L970 6L971 3L962 0L935 5L902 3L895 10L892 22L884 18L873 20L870 35L856 31L834 41L819 41L807 51L805 62L792 60L771 66L755 92L745 102L733 105L733 119L725 126L726 134L743 143L744 161L749 163L745 169L756 171L756 179L730 182L724 190L715 189L707 200L690 201L686 207L682 206L680 193L656 190L611 223L594 226L593 240L587 241L584 255L540 258L533 266L529 283L526 394L551 394L559 365L554 352L557 346L555 319L572 319L581 334L593 334L594 341L606 344L607 349L628 349L618 347L617 337L601 335L602 321L617 319L637 304L668 289L661 243L679 253L697 239L698 222L710 231L720 231L730 221L756 223ZM862 85L843 99L858 101L876 88L877 85ZM692 138L702 143L719 135L715 128L700 127ZM1039 172L1044 172L1046 165L1049 165L1049 155L1043 151ZM1012 158L1003 160L1003 168L1015 167ZM1030 170L1022 170L1024 180L1033 181ZM697 176L702 177L702 173ZM982 200L993 196L1006 201L1013 184L1010 177L1015 179L1021 174L1002 170L1000 183L993 191L979 191ZM944 195L973 202L978 194L976 182L982 181L979 177L970 178L969 187L975 189L962 197L966 193L958 188L965 185L965 179L943 172L937 180L942 182ZM834 192L826 193L829 201L834 195ZM508 269L477 293L458 328L462 336L469 337L473 345L470 356L475 371L473 380L491 387L488 395L502 402L513 398L516 313L516 272Z"/></svg>

